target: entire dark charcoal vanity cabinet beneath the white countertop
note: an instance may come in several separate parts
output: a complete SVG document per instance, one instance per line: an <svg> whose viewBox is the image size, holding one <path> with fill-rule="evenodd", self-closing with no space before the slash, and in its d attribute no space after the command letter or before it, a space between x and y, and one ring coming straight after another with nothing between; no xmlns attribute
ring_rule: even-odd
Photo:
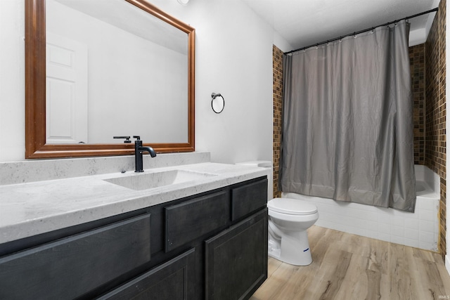
<svg viewBox="0 0 450 300"><path fill-rule="evenodd" d="M0 299L248 299L267 276L267 179L0 244Z"/></svg>

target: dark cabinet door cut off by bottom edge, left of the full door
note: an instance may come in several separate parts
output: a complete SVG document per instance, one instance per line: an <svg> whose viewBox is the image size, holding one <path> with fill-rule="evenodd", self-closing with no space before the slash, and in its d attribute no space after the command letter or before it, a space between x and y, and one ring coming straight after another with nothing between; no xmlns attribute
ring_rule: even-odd
<svg viewBox="0 0 450 300"><path fill-rule="evenodd" d="M149 270L99 299L193 299L195 249Z"/></svg>

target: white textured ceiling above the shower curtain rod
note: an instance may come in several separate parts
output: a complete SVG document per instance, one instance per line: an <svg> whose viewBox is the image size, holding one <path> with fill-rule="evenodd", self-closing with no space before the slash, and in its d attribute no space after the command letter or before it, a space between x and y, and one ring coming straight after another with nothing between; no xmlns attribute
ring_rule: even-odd
<svg viewBox="0 0 450 300"><path fill-rule="evenodd" d="M293 49L429 11L439 4L439 0L243 1L269 22ZM409 20L411 35L414 32L417 35L414 39L420 40L420 43L425 41L425 27L427 22L431 22L431 19L428 21L429 16Z"/></svg>

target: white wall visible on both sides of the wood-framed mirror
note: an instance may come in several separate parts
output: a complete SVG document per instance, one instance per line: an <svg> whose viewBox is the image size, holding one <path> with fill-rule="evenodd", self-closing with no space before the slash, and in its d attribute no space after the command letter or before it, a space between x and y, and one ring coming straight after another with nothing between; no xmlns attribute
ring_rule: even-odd
<svg viewBox="0 0 450 300"><path fill-rule="evenodd" d="M195 148L214 162L272 158L274 30L238 0L152 0L195 27ZM24 4L0 1L0 161L25 155ZM211 93L226 105L217 115Z"/></svg>

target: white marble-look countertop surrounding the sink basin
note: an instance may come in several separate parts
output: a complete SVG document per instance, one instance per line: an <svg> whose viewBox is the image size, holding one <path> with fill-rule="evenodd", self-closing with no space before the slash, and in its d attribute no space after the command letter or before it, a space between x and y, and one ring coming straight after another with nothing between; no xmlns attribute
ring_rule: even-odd
<svg viewBox="0 0 450 300"><path fill-rule="evenodd" d="M148 190L105 181L136 176L132 171L1 185L0 244L269 175L269 169L212 162L146 169L143 174L169 170L211 176Z"/></svg>

